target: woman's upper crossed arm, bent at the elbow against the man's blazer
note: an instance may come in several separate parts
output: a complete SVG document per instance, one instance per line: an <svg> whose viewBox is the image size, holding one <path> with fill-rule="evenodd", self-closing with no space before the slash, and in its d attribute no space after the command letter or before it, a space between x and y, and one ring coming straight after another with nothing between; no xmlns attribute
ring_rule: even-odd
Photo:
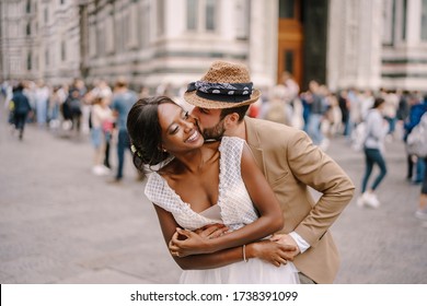
<svg viewBox="0 0 427 306"><path fill-rule="evenodd" d="M172 243L178 249L175 249L178 256L209 254L242 246L259 240L282 228L284 216L278 200L263 173L257 167L247 145L243 146L241 173L253 204L259 213L259 217L238 231L215 239L201 238L189 231L177 229L178 234L186 237L184 240L173 237Z"/></svg>

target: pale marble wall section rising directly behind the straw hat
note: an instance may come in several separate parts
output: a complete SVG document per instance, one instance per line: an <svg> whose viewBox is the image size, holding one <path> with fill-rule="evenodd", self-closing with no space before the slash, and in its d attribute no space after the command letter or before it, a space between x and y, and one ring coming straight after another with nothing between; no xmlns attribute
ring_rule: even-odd
<svg viewBox="0 0 427 306"><path fill-rule="evenodd" d="M199 78L214 59L246 62L249 37L241 23L249 19L250 1L215 3L216 28L209 31L204 26L204 7L196 28L187 28L186 0L92 2L89 78L113 81L125 75L150 87L182 86Z"/></svg>

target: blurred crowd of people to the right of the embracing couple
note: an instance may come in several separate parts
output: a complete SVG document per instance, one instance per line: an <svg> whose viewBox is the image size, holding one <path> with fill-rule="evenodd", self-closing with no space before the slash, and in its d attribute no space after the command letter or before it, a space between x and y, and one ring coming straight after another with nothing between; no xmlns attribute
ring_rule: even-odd
<svg viewBox="0 0 427 306"><path fill-rule="evenodd" d="M300 92L298 83L288 72L284 72L281 83L266 92L262 99L251 106L251 116L303 129L313 143L324 151L331 139L344 136L354 150L363 152L366 172L357 203L373 209L380 205L374 191L386 175L384 143L406 142L407 136L427 110L427 95L423 96L418 91L345 89L332 92L312 80L308 91ZM425 220L427 174L424 157L407 154L406 179L411 184L423 184L416 215ZM376 165L380 172L369 184Z"/></svg>

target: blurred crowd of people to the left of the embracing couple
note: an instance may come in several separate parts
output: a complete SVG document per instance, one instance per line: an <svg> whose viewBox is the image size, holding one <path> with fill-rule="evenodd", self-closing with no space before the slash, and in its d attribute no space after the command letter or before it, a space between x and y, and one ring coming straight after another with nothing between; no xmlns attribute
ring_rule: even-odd
<svg viewBox="0 0 427 306"><path fill-rule="evenodd" d="M145 90L141 90L143 95ZM111 149L114 142L117 167L112 183L120 183L123 178L125 152L130 148L126 117L138 96L125 78L117 78L112 86L104 80L88 86L81 79L64 85L27 80L1 84L1 102L8 110L11 132L18 133L21 141L26 123L71 138L90 136L94 149L92 173L97 176L113 170Z"/></svg>

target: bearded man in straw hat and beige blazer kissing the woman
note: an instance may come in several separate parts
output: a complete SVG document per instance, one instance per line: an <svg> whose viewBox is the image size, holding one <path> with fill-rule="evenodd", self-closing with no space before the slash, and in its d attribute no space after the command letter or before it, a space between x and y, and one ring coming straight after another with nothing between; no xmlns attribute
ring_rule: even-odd
<svg viewBox="0 0 427 306"><path fill-rule="evenodd" d="M228 90L238 86L240 91ZM274 238L296 246L301 283L332 283L339 255L328 231L351 200L355 186L345 172L299 129L250 118L253 83L246 67L214 62L184 98L195 108L206 140L244 139L280 203L285 226ZM315 201L311 189L321 193Z"/></svg>

